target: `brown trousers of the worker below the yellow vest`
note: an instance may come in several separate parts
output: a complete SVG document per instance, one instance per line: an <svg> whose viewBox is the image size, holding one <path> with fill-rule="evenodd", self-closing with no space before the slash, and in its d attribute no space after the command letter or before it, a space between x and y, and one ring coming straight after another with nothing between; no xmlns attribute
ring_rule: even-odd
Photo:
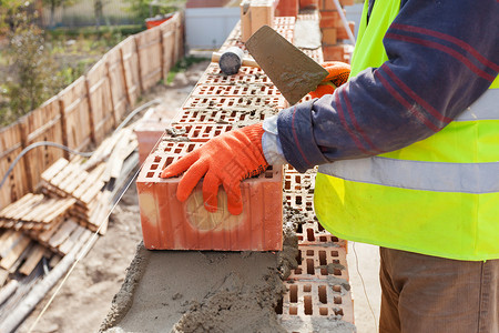
<svg viewBox="0 0 499 333"><path fill-rule="evenodd" d="M499 332L499 260L379 252L380 333Z"/></svg>

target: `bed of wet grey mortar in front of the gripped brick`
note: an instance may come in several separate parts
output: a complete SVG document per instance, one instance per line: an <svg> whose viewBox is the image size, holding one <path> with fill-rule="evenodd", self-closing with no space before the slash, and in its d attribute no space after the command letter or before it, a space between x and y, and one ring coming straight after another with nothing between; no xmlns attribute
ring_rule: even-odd
<svg viewBox="0 0 499 333"><path fill-rule="evenodd" d="M296 266L281 252L149 251L141 244L101 332L286 332L275 306Z"/></svg>

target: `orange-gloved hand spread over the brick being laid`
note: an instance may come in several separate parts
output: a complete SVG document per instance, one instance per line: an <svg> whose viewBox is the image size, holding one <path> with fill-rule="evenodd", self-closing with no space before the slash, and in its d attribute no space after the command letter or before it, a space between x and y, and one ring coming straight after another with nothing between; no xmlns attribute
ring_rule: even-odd
<svg viewBox="0 0 499 333"><path fill-rule="evenodd" d="M215 137L166 167L161 176L175 176L186 171L176 191L176 198L183 202L204 175L205 209L216 212L217 192L222 184L227 193L228 212L238 215L243 212L241 181L264 172L268 167L262 150L263 133L262 123L257 123Z"/></svg>

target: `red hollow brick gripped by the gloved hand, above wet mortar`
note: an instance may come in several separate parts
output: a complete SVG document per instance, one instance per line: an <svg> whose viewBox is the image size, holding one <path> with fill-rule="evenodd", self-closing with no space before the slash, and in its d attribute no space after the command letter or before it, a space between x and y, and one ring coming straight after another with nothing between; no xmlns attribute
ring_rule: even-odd
<svg viewBox="0 0 499 333"><path fill-rule="evenodd" d="M186 202L176 199L180 178L161 179L161 170L201 147L195 142L163 141L149 155L136 185L144 245L156 250L282 250L282 170L268 170L242 182L243 213L231 215L225 192L218 211L203 206L202 182Z"/></svg>

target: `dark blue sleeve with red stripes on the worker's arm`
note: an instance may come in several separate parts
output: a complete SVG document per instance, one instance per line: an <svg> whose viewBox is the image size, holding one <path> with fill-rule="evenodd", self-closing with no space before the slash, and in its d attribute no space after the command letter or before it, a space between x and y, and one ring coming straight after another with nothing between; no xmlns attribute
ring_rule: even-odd
<svg viewBox="0 0 499 333"><path fill-rule="evenodd" d="M279 142L267 131L265 155L281 145L285 159L305 171L394 151L435 134L496 78L498 18L496 0L403 0L384 39L389 60L360 72L334 94L279 112Z"/></svg>

